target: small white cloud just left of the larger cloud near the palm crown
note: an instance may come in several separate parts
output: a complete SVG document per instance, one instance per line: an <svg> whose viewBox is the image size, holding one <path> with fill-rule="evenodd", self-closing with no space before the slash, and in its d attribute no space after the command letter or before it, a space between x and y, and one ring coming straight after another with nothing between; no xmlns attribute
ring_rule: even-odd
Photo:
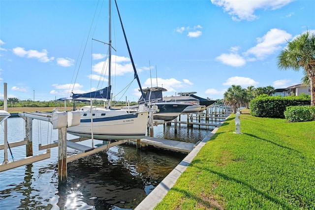
<svg viewBox="0 0 315 210"><path fill-rule="evenodd" d="M242 67L246 64L246 60L238 54L239 47L231 47L231 53L223 53L216 59L221 61L221 63L232 66L232 67Z"/></svg>

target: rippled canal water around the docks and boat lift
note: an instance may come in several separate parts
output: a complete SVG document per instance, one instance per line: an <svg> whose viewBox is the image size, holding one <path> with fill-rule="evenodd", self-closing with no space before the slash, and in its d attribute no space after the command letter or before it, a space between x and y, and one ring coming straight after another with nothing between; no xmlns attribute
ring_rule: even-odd
<svg viewBox="0 0 315 210"><path fill-rule="evenodd" d="M23 140L24 120L9 118L7 123L8 141ZM154 127L154 137L196 143L213 128L187 128L182 124L175 135L173 124L159 125ZM74 138L67 136L67 139ZM46 152L38 150L38 143L44 145L57 139L58 130L53 130L50 123L33 120L33 155ZM94 140L94 144L100 142ZM91 140L81 143L92 145ZM0 144L3 144L3 125L0 125ZM11 150L15 160L26 157L25 146ZM67 153L77 151L68 148ZM137 151L135 143L126 143L68 163L67 183L61 187L58 186L58 148L53 147L49 159L0 173L0 209L134 209L185 156L154 147ZM0 150L1 163L3 159L3 150ZM9 149L8 160L12 162Z"/></svg>

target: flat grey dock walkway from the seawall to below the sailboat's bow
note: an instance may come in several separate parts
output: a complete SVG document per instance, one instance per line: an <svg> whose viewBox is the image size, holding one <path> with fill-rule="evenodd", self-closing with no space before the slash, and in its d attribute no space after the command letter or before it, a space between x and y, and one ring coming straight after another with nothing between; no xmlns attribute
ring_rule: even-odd
<svg viewBox="0 0 315 210"><path fill-rule="evenodd" d="M196 145L194 143L189 143L189 142L165 140L165 139L154 138L154 137L145 137L141 139L140 141L143 144L153 145L153 146L164 148L164 149L170 149L174 151L187 152L187 153L191 152L192 149Z"/></svg>

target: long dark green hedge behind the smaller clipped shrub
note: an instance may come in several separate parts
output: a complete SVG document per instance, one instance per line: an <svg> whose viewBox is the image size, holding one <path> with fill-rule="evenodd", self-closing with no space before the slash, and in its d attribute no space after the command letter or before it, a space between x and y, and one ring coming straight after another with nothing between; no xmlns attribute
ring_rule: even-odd
<svg viewBox="0 0 315 210"><path fill-rule="evenodd" d="M260 95L250 103L251 114L256 117L284 118L288 106L311 105L311 96L267 96Z"/></svg>

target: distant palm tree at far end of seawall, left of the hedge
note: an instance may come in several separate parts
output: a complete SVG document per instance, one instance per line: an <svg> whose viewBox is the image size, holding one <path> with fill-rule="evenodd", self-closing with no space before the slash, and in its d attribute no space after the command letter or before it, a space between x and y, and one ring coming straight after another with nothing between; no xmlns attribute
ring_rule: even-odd
<svg viewBox="0 0 315 210"><path fill-rule="evenodd" d="M224 93L224 104L232 107L233 113L236 113L236 109L244 104L246 92L242 89L241 85L232 85Z"/></svg>

